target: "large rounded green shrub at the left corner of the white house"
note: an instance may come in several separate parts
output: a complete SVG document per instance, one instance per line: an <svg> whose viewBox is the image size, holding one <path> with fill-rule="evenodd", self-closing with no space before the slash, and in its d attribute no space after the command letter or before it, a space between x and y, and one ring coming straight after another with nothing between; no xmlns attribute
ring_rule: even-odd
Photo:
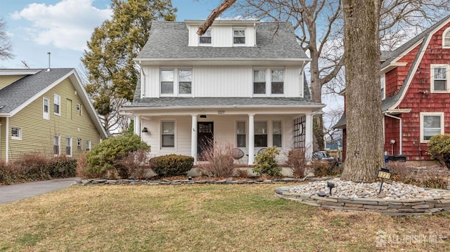
<svg viewBox="0 0 450 252"><path fill-rule="evenodd" d="M150 151L150 146L138 135L124 134L105 139L86 154L88 167L85 170L105 175L108 171L115 171L117 162L136 150Z"/></svg>

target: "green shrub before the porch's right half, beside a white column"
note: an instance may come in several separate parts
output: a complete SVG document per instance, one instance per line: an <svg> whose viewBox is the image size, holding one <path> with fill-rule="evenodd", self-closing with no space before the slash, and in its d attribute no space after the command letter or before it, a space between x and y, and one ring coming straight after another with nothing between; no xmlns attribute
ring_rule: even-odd
<svg viewBox="0 0 450 252"><path fill-rule="evenodd" d="M256 165L253 167L253 172L258 175L266 174L271 176L281 175L281 168L276 162L276 156L280 154L280 150L274 147L267 147L262 153L255 157Z"/></svg>

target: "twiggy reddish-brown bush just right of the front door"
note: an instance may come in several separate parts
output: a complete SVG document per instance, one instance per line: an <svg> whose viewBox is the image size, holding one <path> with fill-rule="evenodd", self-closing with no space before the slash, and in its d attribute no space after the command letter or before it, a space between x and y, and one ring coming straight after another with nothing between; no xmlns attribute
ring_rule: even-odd
<svg viewBox="0 0 450 252"><path fill-rule="evenodd" d="M202 160L206 161L198 166L202 175L210 177L231 177L234 173L234 159L231 157L231 145L210 145L202 152Z"/></svg>

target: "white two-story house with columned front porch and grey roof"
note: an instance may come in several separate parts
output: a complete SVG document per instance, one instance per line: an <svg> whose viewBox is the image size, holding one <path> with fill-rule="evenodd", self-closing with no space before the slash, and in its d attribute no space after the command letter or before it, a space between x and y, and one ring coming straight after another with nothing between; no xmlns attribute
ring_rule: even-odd
<svg viewBox="0 0 450 252"><path fill-rule="evenodd" d="M154 155L198 160L210 143L243 150L245 162L276 145L312 153L311 102L303 75L309 62L289 22L216 20L153 22L136 62L141 79L122 110Z"/></svg>

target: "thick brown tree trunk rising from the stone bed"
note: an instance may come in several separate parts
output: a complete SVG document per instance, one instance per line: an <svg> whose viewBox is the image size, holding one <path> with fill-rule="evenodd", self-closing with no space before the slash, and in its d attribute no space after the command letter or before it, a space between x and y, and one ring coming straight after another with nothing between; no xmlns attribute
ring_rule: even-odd
<svg viewBox="0 0 450 252"><path fill-rule="evenodd" d="M381 0L343 0L347 152L342 180L371 183L383 164Z"/></svg>

